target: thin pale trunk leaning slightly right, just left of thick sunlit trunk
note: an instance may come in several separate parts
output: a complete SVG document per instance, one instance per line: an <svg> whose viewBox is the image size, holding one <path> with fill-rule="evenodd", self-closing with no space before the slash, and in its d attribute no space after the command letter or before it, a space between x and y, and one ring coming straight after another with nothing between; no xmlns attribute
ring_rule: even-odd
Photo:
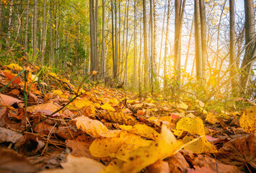
<svg viewBox="0 0 256 173"><path fill-rule="evenodd" d="M168 0L167 9L167 31L165 34L165 47L164 47L164 92L167 94L167 53L168 53L168 37L169 37L169 18L171 16L171 0Z"/></svg>

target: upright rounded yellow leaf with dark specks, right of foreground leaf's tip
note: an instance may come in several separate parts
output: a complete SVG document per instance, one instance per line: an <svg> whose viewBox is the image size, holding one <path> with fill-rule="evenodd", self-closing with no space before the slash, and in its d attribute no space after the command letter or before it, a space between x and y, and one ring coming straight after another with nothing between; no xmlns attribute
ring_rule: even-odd
<svg viewBox="0 0 256 173"><path fill-rule="evenodd" d="M176 125L176 130L187 131L198 136L205 136L206 132L203 126L203 120L200 117L190 118L182 117Z"/></svg>

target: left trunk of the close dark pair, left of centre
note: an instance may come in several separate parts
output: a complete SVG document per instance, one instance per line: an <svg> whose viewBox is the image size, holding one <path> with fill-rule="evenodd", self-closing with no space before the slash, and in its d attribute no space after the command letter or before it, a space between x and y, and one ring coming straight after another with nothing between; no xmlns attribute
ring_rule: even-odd
<svg viewBox="0 0 256 173"><path fill-rule="evenodd" d="M91 37L91 73L95 70L95 24L94 0L89 0L90 37Z"/></svg>

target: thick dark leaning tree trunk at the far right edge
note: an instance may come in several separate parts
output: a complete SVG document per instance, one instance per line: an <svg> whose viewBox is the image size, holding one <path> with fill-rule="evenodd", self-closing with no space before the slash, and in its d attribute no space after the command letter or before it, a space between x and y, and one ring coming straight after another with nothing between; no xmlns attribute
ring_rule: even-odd
<svg viewBox="0 0 256 173"><path fill-rule="evenodd" d="M241 68L244 70L244 74L241 76L241 86L243 89L247 89L250 81L252 65L255 62L255 16L253 9L253 0L244 0L244 12L245 12L245 45L249 44L245 48L244 58L242 60ZM252 40L253 39L253 40Z"/></svg>

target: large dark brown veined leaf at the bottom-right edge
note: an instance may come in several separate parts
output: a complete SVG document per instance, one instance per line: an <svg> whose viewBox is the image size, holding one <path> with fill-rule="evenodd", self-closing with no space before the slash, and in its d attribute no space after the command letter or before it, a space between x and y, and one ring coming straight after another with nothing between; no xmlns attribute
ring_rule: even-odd
<svg viewBox="0 0 256 173"><path fill-rule="evenodd" d="M256 169L256 133L234 138L219 149L219 161L237 167L250 164Z"/></svg>

